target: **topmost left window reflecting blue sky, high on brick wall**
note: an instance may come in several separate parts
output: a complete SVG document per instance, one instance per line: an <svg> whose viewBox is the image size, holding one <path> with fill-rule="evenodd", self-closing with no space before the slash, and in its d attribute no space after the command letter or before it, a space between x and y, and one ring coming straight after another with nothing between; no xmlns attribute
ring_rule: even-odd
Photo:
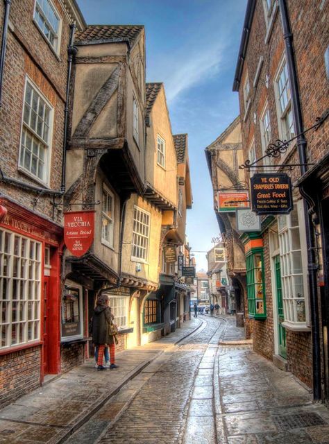
<svg viewBox="0 0 329 444"><path fill-rule="evenodd" d="M60 15L51 0L36 0L34 22L49 42L51 48L59 52Z"/></svg>

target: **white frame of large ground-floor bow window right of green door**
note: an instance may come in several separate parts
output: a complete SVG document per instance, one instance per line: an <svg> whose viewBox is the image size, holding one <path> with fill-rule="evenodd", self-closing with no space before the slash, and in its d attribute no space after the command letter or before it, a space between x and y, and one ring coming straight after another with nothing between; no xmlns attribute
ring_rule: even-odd
<svg viewBox="0 0 329 444"><path fill-rule="evenodd" d="M278 217L278 237L280 246L280 268L281 268L281 280L282 280L282 300L283 311L285 314L285 321L282 323L283 327L288 330L310 330L310 313L309 313L309 294L308 294L308 272L307 272L307 246L306 246L306 233L305 233L305 220L303 200L295 202L298 226L292 226L292 213L287 216ZM282 218L282 219L281 219ZM280 221L285 221L285 225L282 225ZM299 239L299 248L292 248L293 233L296 232L295 239ZM296 257L296 260L294 260ZM298 264L300 261L301 271L297 273L294 271L294 264ZM303 297L298 297L297 290L294 287L294 282L298 282L303 285ZM305 319L298 321L298 301L302 301L305 311Z"/></svg>

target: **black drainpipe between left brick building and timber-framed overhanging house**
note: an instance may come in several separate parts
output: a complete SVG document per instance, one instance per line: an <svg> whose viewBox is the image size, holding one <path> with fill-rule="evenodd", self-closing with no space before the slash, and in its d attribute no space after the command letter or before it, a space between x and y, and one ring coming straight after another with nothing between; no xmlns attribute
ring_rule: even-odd
<svg viewBox="0 0 329 444"><path fill-rule="evenodd" d="M65 191L65 172L66 172L66 150L67 150L67 126L69 123L69 88L71 80L72 62L74 56L78 52L76 46L74 46L74 33L76 31L76 24L73 23L70 26L69 46L67 48L67 54L69 56L69 66L67 67L67 85L66 85L66 98L65 98L65 110L64 110L64 136L63 136L63 151L62 151L62 185L60 185L61 191Z"/></svg>

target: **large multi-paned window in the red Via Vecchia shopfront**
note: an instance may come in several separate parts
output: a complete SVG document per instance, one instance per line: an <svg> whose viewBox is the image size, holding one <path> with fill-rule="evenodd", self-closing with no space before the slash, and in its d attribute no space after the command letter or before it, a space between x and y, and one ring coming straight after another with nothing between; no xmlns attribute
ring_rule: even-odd
<svg viewBox="0 0 329 444"><path fill-rule="evenodd" d="M40 340L41 244L0 230L0 349Z"/></svg>

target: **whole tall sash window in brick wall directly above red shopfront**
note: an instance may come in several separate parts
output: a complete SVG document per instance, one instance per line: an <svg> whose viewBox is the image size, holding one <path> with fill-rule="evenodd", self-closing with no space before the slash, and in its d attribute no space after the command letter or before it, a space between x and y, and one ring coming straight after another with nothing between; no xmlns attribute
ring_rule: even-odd
<svg viewBox="0 0 329 444"><path fill-rule="evenodd" d="M49 182L49 150L53 108L41 92L26 81L19 168Z"/></svg>

